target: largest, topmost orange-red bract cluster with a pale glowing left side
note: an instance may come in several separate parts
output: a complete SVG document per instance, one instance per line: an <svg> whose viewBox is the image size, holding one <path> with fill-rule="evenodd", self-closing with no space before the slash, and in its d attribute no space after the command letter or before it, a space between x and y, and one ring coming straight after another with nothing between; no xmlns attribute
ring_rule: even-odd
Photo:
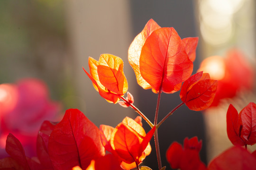
<svg viewBox="0 0 256 170"><path fill-rule="evenodd" d="M197 42L198 38L181 40L174 28L161 28L150 19L128 51L137 83L154 93L178 91L192 73Z"/></svg>

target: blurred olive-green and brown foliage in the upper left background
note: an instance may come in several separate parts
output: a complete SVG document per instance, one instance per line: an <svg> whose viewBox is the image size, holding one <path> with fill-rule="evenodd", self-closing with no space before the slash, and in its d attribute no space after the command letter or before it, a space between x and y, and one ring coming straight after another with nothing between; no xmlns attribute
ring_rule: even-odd
<svg viewBox="0 0 256 170"><path fill-rule="evenodd" d="M36 77L55 100L73 94L62 0L0 0L0 83Z"/></svg>

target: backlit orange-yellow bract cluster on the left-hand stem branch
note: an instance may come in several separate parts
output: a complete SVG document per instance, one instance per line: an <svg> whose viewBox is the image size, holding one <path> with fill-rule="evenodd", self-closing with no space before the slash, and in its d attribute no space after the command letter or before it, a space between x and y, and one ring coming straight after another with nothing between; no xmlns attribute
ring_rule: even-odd
<svg viewBox="0 0 256 170"><path fill-rule="evenodd" d="M94 88L108 102L117 103L128 90L123 61L112 54L101 54L99 61L89 57L91 75L84 69Z"/></svg>

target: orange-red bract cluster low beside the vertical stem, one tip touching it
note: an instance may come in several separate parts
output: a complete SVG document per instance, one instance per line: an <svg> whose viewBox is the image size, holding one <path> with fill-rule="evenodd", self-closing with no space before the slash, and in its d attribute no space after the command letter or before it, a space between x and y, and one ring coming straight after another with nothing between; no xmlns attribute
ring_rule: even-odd
<svg viewBox="0 0 256 170"><path fill-rule="evenodd" d="M119 158L123 169L135 168L151 152L149 141L155 127L146 134L140 124L126 117L117 127L101 125L100 130L103 146Z"/></svg>

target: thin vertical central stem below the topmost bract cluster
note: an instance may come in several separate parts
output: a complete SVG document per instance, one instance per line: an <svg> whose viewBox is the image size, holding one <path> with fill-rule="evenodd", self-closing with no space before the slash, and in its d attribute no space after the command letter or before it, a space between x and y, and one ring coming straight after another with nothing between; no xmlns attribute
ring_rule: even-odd
<svg viewBox="0 0 256 170"><path fill-rule="evenodd" d="M156 109L155 109L155 121L154 121L155 126L157 125L157 117L158 117L158 111L159 111L159 105L160 105L161 92L162 91L161 91L161 88L160 88L159 93L158 93L158 97L157 97ZM157 129L155 129L154 139L155 139L155 150L156 150L158 168L159 168L159 170L161 170L162 169L162 161L161 161L161 155L160 155L160 149L159 149Z"/></svg>

